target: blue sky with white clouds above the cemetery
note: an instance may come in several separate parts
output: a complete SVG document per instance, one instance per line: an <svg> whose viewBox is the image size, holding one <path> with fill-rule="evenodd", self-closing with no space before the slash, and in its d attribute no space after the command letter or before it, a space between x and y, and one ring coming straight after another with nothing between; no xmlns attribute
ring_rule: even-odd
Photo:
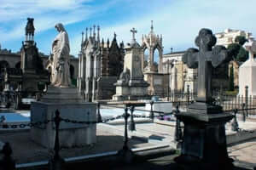
<svg viewBox="0 0 256 170"><path fill-rule="evenodd" d="M195 47L201 28L213 33L227 28L252 32L256 36L255 0L0 0L1 48L20 51L25 40L26 18L34 18L35 41L40 52L49 54L57 35L56 23L67 30L71 54L78 56L81 32L93 25L101 27L101 39L131 41L150 31L162 34L164 54Z"/></svg>

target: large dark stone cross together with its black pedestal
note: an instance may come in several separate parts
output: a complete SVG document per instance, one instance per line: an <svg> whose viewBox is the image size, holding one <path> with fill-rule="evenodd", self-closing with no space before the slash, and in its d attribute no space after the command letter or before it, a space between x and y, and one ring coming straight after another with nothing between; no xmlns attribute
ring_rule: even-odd
<svg viewBox="0 0 256 170"><path fill-rule="evenodd" d="M233 164L228 156L225 123L233 116L224 113L222 107L212 104L212 67L230 60L223 46L215 46L216 37L209 29L201 29L195 38L199 47L189 48L183 54L183 62L189 68L198 67L198 87L195 103L187 112L177 114L184 123L181 155L175 161L189 169L230 169Z"/></svg>

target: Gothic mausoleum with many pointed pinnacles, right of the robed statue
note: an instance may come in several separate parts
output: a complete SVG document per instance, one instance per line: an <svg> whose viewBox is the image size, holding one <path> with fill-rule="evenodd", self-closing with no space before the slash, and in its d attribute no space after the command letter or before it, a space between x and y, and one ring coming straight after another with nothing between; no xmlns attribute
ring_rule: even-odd
<svg viewBox="0 0 256 170"><path fill-rule="evenodd" d="M85 38L82 34L79 54L79 93L85 101L112 99L115 94L113 83L117 82L123 71L124 43L118 44L116 34L112 42L100 41L100 27L93 26L93 32L86 28Z"/></svg>

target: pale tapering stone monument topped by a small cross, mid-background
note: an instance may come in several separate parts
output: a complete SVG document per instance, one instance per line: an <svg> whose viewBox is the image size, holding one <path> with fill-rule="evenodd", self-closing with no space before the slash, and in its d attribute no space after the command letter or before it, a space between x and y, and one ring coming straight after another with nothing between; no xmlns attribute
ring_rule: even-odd
<svg viewBox="0 0 256 170"><path fill-rule="evenodd" d="M148 82L143 79L142 70L142 50L136 42L133 28L131 43L125 47L124 70L119 76L119 80L114 84L116 86L116 94L113 95L113 100L137 100L149 99Z"/></svg>

